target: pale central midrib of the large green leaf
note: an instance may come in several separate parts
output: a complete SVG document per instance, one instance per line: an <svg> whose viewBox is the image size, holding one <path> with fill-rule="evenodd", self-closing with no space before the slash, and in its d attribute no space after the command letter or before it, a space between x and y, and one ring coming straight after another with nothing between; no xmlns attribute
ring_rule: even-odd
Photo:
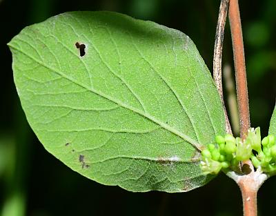
<svg viewBox="0 0 276 216"><path fill-rule="evenodd" d="M175 128L172 128L171 126L169 126L168 124L165 124L162 121L159 121L158 119L156 119L155 117L152 117L151 115L148 115L148 113L146 112L141 112L140 110L138 110L137 108L133 108L131 106L128 106L127 104L124 104L122 101L119 101L115 98L112 98L108 95L103 94L103 92L99 92L98 90L95 90L94 88L90 88L86 85L80 84L78 81L75 81L74 79L72 79L71 77L68 77L66 74L64 74L63 72L60 72L54 68L51 68L50 66L47 66L45 63L39 61L38 59L35 59L34 57L32 57L31 55L28 55L26 52L24 52L23 50L21 50L20 48L17 48L16 46L13 46L12 43L8 43L8 46L10 46L10 48L13 48L14 50L17 50L19 52L21 52L23 55L26 55L26 57L29 57L30 59L32 59L33 61L36 61L37 63L39 63L41 66L48 68L49 70L51 70L52 72L56 72L58 75L60 75L61 77L67 79L68 81L72 81L72 83L80 86L81 88L84 88L86 90L89 90L90 92L95 93L96 95L99 95L100 97L103 97L105 99L108 99L109 101L114 102L115 104L118 104L119 106L126 108L132 112L136 112L137 114L141 115L142 117L146 117L146 119L149 119L150 121L154 122L155 124L158 124L159 126L161 126L161 128L164 128L165 130L168 130L169 132L171 132L174 135L177 135L178 137L180 137L181 139L184 139L185 141L187 141L188 143L190 143L196 150L201 151L204 146L202 146L201 144L198 144L197 141L195 141L194 139L188 137L187 135L185 135L183 132L179 132L178 130L175 130Z"/></svg>

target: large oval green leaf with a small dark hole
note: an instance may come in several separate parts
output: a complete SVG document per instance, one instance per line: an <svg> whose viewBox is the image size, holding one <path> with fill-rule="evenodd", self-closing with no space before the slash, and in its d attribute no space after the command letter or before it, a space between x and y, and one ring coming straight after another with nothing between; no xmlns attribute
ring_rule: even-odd
<svg viewBox="0 0 276 216"><path fill-rule="evenodd" d="M200 150L225 134L224 113L184 33L115 12L66 12L8 45L30 126L72 170L132 191L210 180Z"/></svg>

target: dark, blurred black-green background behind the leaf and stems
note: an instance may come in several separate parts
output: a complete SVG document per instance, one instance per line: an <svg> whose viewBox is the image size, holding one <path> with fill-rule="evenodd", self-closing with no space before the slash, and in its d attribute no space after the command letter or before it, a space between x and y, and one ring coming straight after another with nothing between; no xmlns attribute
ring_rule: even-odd
<svg viewBox="0 0 276 216"><path fill-rule="evenodd" d="M268 132L276 92L276 1L240 1L250 117ZM71 10L114 10L148 19L190 36L212 69L219 0L0 0L0 214L50 215L242 215L242 197L221 174L188 193L130 193L103 186L70 170L44 150L26 123L12 80L6 43L19 31ZM233 68L226 25L223 64ZM259 190L259 215L275 215L276 178Z"/></svg>

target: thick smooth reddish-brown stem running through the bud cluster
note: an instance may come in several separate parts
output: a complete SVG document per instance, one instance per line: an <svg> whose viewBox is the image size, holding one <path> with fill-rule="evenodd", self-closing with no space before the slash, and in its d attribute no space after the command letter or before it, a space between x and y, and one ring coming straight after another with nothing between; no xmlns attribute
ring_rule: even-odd
<svg viewBox="0 0 276 216"><path fill-rule="evenodd" d="M250 128L250 116L248 106L248 90L246 81L246 63L244 58L244 42L242 39L242 24L239 15L238 0L230 0L229 21L233 43L235 77L237 88L237 102L239 108L239 128L242 139L246 138ZM237 184L242 191L244 204L244 216L257 216L257 191L266 179L258 172L255 172L250 160L244 161L242 166L248 166L248 173L239 177Z"/></svg>

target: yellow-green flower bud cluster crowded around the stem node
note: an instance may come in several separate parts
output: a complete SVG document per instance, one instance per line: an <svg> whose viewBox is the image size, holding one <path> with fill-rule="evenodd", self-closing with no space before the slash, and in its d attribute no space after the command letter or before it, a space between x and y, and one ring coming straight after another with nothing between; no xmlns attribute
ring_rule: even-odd
<svg viewBox="0 0 276 216"><path fill-rule="evenodd" d="M254 150L254 151L253 151ZM201 169L205 174L217 174L221 169L239 170L239 162L251 159L255 168L276 173L275 137L268 135L261 141L260 128L250 128L246 139L217 135L215 144L201 151Z"/></svg>

